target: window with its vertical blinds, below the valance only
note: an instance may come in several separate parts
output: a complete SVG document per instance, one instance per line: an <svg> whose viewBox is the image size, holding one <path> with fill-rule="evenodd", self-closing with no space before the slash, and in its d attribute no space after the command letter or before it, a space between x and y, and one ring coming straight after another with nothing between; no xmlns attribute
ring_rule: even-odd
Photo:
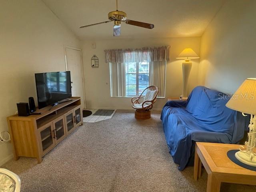
<svg viewBox="0 0 256 192"><path fill-rule="evenodd" d="M111 96L139 96L148 86L155 85L158 87L158 97L164 98L165 77L166 62L110 62Z"/></svg>

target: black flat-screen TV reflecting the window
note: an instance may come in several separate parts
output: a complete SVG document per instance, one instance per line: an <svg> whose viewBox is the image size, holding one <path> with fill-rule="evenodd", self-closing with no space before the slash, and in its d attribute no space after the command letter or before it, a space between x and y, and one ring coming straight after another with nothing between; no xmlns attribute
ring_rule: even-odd
<svg viewBox="0 0 256 192"><path fill-rule="evenodd" d="M70 71L36 73L38 108L71 97Z"/></svg>

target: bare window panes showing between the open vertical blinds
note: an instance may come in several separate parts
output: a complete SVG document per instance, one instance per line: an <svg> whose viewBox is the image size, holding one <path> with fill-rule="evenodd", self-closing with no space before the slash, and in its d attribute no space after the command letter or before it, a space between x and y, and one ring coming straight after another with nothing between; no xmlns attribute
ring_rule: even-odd
<svg viewBox="0 0 256 192"><path fill-rule="evenodd" d="M140 95L149 86L149 63L125 63L126 96Z"/></svg>

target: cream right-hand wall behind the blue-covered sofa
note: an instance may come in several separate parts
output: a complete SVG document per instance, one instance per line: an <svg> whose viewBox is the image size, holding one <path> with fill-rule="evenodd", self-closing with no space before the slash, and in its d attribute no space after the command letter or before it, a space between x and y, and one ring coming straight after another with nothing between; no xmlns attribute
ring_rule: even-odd
<svg viewBox="0 0 256 192"><path fill-rule="evenodd" d="M256 1L227 0L201 39L199 83L234 93L256 77Z"/></svg>

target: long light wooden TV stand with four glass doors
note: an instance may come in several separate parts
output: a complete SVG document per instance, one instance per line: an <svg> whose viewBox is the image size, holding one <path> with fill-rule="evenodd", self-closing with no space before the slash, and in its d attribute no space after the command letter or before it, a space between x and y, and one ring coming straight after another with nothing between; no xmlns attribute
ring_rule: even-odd
<svg viewBox="0 0 256 192"><path fill-rule="evenodd" d="M7 117L14 159L20 156L42 157L68 134L83 124L80 97L71 97L68 102L37 109L40 115Z"/></svg>

